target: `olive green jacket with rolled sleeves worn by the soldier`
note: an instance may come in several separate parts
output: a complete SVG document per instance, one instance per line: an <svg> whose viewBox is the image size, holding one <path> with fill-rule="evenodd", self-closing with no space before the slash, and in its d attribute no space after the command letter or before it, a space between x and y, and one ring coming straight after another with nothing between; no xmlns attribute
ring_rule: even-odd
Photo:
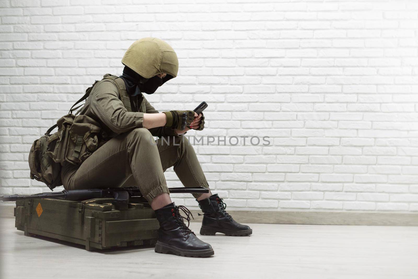
<svg viewBox="0 0 418 279"><path fill-rule="evenodd" d="M144 113L158 113L144 96L129 96L123 79L106 74L98 81L80 114L100 123L104 141L117 134L143 127ZM171 127L149 129L156 137L177 136Z"/></svg>

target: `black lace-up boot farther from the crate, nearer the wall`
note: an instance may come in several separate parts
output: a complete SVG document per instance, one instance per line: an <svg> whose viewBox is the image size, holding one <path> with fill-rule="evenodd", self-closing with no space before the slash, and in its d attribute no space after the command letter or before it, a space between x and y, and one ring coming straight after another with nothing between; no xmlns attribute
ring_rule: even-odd
<svg viewBox="0 0 418 279"><path fill-rule="evenodd" d="M237 223L225 211L227 205L218 194L197 202L204 213L200 234L214 236L215 233L225 233L227 236L249 236L252 233L249 226Z"/></svg>

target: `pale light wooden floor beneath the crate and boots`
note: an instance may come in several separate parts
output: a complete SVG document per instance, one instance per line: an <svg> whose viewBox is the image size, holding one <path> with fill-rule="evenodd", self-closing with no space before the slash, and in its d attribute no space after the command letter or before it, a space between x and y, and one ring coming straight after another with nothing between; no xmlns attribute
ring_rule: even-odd
<svg viewBox="0 0 418 279"><path fill-rule="evenodd" d="M89 252L0 222L1 278L418 278L418 227L251 224L250 237L196 233L215 255L195 259L153 247Z"/></svg>

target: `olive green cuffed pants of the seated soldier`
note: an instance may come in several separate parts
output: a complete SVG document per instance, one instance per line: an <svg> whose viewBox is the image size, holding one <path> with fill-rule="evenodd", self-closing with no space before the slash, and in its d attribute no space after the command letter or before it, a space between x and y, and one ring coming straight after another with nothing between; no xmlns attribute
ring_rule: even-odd
<svg viewBox="0 0 418 279"><path fill-rule="evenodd" d="M156 196L169 193L163 172L172 166L185 187L209 188L186 137L154 141L146 128L113 137L80 166L64 165L61 179L66 190L138 186L151 203ZM198 198L200 194L193 195Z"/></svg>

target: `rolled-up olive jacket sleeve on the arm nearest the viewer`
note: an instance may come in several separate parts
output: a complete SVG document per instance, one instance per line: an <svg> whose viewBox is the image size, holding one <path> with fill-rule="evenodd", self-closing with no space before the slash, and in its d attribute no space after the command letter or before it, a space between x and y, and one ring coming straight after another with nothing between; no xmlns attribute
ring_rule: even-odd
<svg viewBox="0 0 418 279"><path fill-rule="evenodd" d="M143 127L143 112L128 112L118 98L112 81L102 81L94 86L91 109L103 124L117 134Z"/></svg>

